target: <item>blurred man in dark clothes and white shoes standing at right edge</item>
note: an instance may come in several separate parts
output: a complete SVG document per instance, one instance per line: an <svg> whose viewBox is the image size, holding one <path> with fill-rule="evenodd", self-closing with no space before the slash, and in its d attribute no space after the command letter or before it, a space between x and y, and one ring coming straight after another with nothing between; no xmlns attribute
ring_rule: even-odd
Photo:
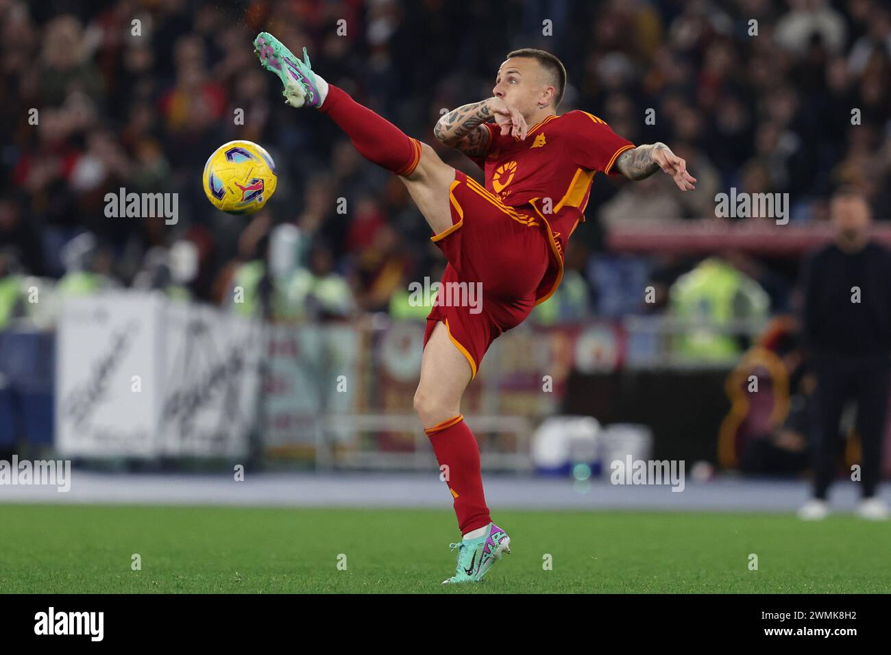
<svg viewBox="0 0 891 655"><path fill-rule="evenodd" d="M891 251L872 242L871 212L862 194L844 189L830 206L835 242L805 262L805 344L817 377L813 407L813 499L798 515L822 519L843 444L839 422L848 400L856 401L862 445L858 512L886 519L877 495L891 370Z"/></svg>

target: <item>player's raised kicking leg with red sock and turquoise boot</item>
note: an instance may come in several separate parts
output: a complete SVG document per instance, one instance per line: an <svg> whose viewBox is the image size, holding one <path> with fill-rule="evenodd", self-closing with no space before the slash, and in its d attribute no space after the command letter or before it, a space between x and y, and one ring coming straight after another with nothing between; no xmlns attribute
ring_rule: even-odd
<svg viewBox="0 0 891 655"><path fill-rule="evenodd" d="M327 114L366 160L400 176L434 233L452 226L448 192L454 168L436 151L325 82L310 67L306 48L301 61L267 32L257 35L254 48L263 67L282 80L282 94L291 106L315 107Z"/></svg>

